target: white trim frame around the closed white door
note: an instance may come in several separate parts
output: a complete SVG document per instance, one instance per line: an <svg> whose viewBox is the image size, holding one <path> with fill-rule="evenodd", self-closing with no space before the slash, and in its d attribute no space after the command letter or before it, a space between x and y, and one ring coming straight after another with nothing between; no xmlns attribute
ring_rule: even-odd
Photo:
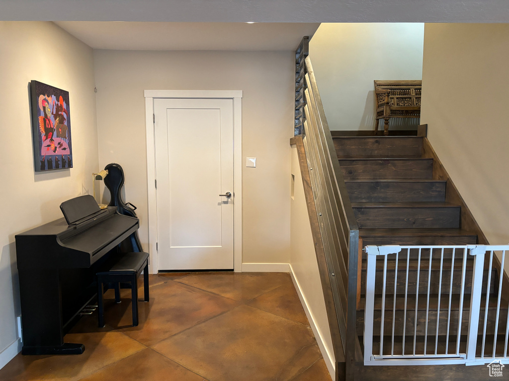
<svg viewBox="0 0 509 381"><path fill-rule="evenodd" d="M242 90L145 90L145 123L147 128L147 186L150 273L158 269L156 166L154 142L154 99L232 99L233 100L233 255L234 271L242 271Z"/></svg>

